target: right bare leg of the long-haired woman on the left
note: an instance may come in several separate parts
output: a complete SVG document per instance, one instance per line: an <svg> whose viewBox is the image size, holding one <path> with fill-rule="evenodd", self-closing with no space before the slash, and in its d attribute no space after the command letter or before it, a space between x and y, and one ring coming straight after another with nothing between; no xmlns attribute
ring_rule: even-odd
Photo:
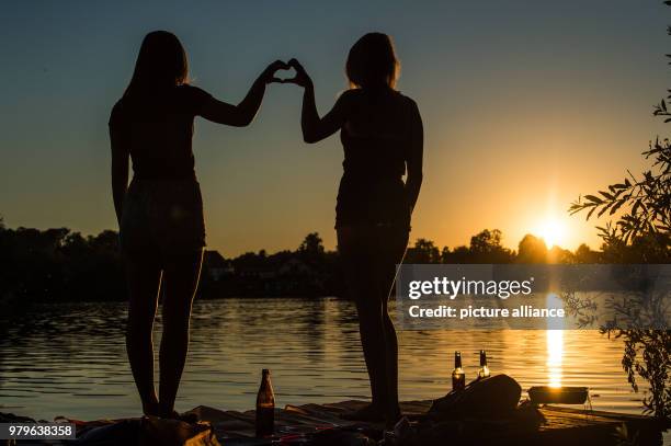
<svg viewBox="0 0 671 446"><path fill-rule="evenodd" d="M203 250L182 255L166 267L163 296L163 334L160 351L160 412L172 416L186 352L191 305L198 287Z"/></svg>

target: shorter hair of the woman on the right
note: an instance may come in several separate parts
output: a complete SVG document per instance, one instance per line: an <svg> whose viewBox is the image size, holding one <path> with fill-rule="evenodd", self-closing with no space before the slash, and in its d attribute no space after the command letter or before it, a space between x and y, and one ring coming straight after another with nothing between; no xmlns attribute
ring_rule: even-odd
<svg viewBox="0 0 671 446"><path fill-rule="evenodd" d="M391 37L383 33L368 33L350 49L345 73L350 88L396 87L400 62L396 57Z"/></svg>

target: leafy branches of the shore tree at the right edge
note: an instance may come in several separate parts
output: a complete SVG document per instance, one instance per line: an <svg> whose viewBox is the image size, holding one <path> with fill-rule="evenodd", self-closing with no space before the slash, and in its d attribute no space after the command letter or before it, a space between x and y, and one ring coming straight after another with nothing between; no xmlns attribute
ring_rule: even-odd
<svg viewBox="0 0 671 446"><path fill-rule="evenodd" d="M664 1L671 5L671 1ZM671 26L668 28L671 35ZM667 55L671 57L671 55ZM671 93L671 90L668 91ZM671 94L655 106L653 115L671 122L667 102ZM650 141L642 152L652 165L640 175L627 170L624 181L594 194L579 197L571 204L571 215L587 211L587 219L604 215L616 218L599 226L605 261L613 263L671 263L671 142L668 138ZM664 290L667 299L670 290ZM628 307L642 306L649 293L634 296ZM622 318L629 315L618 311ZM671 418L671 331L669 330L609 330L603 332L621 338L625 343L622 365L629 384L638 390L641 378L650 386L644 398L648 412L658 418Z"/></svg>

